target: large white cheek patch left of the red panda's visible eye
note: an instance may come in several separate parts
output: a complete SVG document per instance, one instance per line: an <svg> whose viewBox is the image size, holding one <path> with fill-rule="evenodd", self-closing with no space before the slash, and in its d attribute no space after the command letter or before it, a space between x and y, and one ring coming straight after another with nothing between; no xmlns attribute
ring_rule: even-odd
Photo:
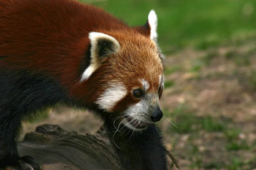
<svg viewBox="0 0 256 170"><path fill-rule="evenodd" d="M101 109L105 111L111 111L117 102L122 100L127 94L125 86L114 83L111 84L110 88L107 88L96 103L100 106Z"/></svg>

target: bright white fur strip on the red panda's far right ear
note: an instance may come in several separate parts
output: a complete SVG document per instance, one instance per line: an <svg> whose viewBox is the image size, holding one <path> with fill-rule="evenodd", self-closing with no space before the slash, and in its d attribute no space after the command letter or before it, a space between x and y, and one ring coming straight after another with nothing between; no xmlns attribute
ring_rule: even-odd
<svg viewBox="0 0 256 170"><path fill-rule="evenodd" d="M157 42L157 14L151 10L148 14L148 24L151 28L150 39Z"/></svg>

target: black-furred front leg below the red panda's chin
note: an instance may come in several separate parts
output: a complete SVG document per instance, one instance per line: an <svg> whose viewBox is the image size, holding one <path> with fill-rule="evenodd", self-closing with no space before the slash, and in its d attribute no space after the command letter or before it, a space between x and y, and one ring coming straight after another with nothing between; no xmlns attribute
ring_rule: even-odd
<svg viewBox="0 0 256 170"><path fill-rule="evenodd" d="M163 138L156 125L151 124L143 131L132 131L122 126L119 127L121 132L116 132L113 123L105 125L125 170L167 170Z"/></svg>

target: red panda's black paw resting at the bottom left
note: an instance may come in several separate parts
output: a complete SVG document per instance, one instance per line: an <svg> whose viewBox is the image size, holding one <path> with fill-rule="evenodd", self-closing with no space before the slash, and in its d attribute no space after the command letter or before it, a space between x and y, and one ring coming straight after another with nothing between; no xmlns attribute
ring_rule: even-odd
<svg viewBox="0 0 256 170"><path fill-rule="evenodd" d="M23 156L18 160L18 166L9 166L4 170L42 170L41 163L31 156ZM0 169L2 170L2 169Z"/></svg>

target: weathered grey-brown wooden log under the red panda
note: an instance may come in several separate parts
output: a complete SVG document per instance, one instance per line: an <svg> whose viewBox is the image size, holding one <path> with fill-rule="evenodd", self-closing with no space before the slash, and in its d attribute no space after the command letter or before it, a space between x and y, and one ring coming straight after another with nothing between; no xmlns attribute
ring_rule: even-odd
<svg viewBox="0 0 256 170"><path fill-rule="evenodd" d="M41 161L44 170L122 170L104 126L94 135L84 136L58 125L44 124L27 133L17 145L20 156ZM166 150L166 154L169 169L178 169L172 153Z"/></svg>

